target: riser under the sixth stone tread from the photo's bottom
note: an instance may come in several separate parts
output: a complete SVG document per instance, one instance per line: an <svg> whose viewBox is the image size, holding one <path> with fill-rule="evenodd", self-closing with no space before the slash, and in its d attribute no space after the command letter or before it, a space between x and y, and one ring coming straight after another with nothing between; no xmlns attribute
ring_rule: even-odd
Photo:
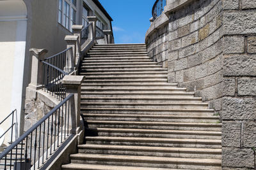
<svg viewBox="0 0 256 170"><path fill-rule="evenodd" d="M197 126L174 126L174 125L124 125L124 124L88 124L89 128L123 128L123 129L157 129L157 130L179 130L179 131L221 131L221 127L197 127Z"/></svg>

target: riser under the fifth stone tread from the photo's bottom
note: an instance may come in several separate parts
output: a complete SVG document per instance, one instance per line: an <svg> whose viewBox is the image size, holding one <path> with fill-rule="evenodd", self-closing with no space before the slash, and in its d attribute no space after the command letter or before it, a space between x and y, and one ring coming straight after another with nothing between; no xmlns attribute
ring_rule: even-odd
<svg viewBox="0 0 256 170"><path fill-rule="evenodd" d="M90 134L88 134L90 135ZM95 132L98 136L111 137L138 137L138 138L179 138L179 139L221 139L221 136L209 136L207 134L152 134L152 133L124 133L124 132Z"/></svg>

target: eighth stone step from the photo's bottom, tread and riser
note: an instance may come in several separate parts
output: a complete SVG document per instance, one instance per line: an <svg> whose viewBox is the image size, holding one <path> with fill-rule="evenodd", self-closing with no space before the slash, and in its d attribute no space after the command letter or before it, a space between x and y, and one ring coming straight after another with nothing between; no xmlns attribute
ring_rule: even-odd
<svg viewBox="0 0 256 170"><path fill-rule="evenodd" d="M156 108L81 108L81 113L99 114L139 114L139 115L191 115L191 116L213 116L214 110L205 109L156 109Z"/></svg>

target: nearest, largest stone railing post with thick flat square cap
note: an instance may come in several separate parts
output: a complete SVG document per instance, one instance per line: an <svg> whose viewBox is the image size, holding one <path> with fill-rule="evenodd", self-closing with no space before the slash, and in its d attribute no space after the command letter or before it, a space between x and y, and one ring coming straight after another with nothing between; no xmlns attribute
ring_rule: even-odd
<svg viewBox="0 0 256 170"><path fill-rule="evenodd" d="M67 75L62 80L63 87L66 87L68 94L74 94L74 102L71 101L72 134L78 134L81 129L80 109L81 109L81 84L84 76Z"/></svg>

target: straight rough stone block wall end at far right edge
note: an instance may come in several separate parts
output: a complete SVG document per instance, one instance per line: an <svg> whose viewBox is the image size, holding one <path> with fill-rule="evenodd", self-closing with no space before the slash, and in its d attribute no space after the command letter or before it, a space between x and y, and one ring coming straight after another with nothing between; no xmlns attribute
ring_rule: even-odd
<svg viewBox="0 0 256 170"><path fill-rule="evenodd" d="M223 1L223 169L255 169L256 1Z"/></svg>

